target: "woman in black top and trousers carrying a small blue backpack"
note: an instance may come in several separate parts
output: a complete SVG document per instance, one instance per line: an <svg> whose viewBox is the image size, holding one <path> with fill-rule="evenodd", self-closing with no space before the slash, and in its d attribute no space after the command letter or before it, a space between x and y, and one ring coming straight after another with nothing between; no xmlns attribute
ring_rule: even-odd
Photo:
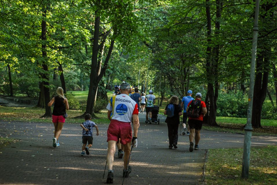
<svg viewBox="0 0 277 185"><path fill-rule="evenodd" d="M177 96L172 96L169 99L164 114L167 115L165 123L167 123L168 128L168 148L172 149L172 147L174 147L176 149L178 142L178 127L180 124L179 116L182 115L182 108L179 105L179 99Z"/></svg>

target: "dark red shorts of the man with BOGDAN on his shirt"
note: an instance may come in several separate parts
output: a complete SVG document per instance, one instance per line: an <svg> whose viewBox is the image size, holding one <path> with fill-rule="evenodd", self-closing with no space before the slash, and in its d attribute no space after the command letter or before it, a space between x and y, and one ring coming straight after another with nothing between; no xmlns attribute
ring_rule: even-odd
<svg viewBox="0 0 277 185"><path fill-rule="evenodd" d="M120 138L120 143L125 145L131 143L132 141L132 126L130 123L117 121L112 119L108 130L107 130L107 141L113 140L118 143Z"/></svg>

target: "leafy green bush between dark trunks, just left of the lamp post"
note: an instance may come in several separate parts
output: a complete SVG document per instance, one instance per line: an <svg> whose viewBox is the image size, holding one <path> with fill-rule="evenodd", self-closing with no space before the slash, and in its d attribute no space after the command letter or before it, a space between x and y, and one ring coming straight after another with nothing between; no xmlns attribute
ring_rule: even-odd
<svg viewBox="0 0 277 185"><path fill-rule="evenodd" d="M239 117L247 116L248 101L242 92L220 92L217 99L217 116Z"/></svg>

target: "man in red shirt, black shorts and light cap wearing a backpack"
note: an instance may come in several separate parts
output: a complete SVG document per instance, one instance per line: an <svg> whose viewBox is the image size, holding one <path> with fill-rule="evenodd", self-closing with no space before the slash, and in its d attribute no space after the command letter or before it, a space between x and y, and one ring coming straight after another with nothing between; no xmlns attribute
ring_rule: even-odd
<svg viewBox="0 0 277 185"><path fill-rule="evenodd" d="M201 101L202 95L200 92L197 92L195 95L195 101ZM187 110L189 109L190 104L192 101L189 102L187 105ZM194 149L198 150L198 143L200 140L200 130L202 128L203 124L203 117L207 113L207 108L206 104L204 101L201 101L201 110L199 112L199 117L193 118L189 117L189 129L190 129L190 134L189 134L189 151L193 151L193 140L195 139L195 146ZM195 136L194 136L195 135Z"/></svg>

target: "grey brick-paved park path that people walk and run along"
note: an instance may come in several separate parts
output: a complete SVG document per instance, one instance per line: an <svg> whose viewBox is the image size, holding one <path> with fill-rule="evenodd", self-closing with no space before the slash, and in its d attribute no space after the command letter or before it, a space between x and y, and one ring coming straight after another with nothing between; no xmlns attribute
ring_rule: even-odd
<svg viewBox="0 0 277 185"><path fill-rule="evenodd" d="M188 136L179 135L178 149L168 149L166 123L145 124L140 114L138 147L131 154L132 173L124 184L202 184L207 149L242 148L244 135L203 130L197 151L189 152ZM160 115L161 121L164 116ZM51 123L0 121L0 137L19 139L0 148L0 184L105 184L107 124L94 130L90 155L81 156L81 127L65 123L60 146L52 147ZM252 146L276 145L277 137L252 137ZM116 151L117 154L117 151ZM122 184L123 160L114 158L114 184Z"/></svg>

